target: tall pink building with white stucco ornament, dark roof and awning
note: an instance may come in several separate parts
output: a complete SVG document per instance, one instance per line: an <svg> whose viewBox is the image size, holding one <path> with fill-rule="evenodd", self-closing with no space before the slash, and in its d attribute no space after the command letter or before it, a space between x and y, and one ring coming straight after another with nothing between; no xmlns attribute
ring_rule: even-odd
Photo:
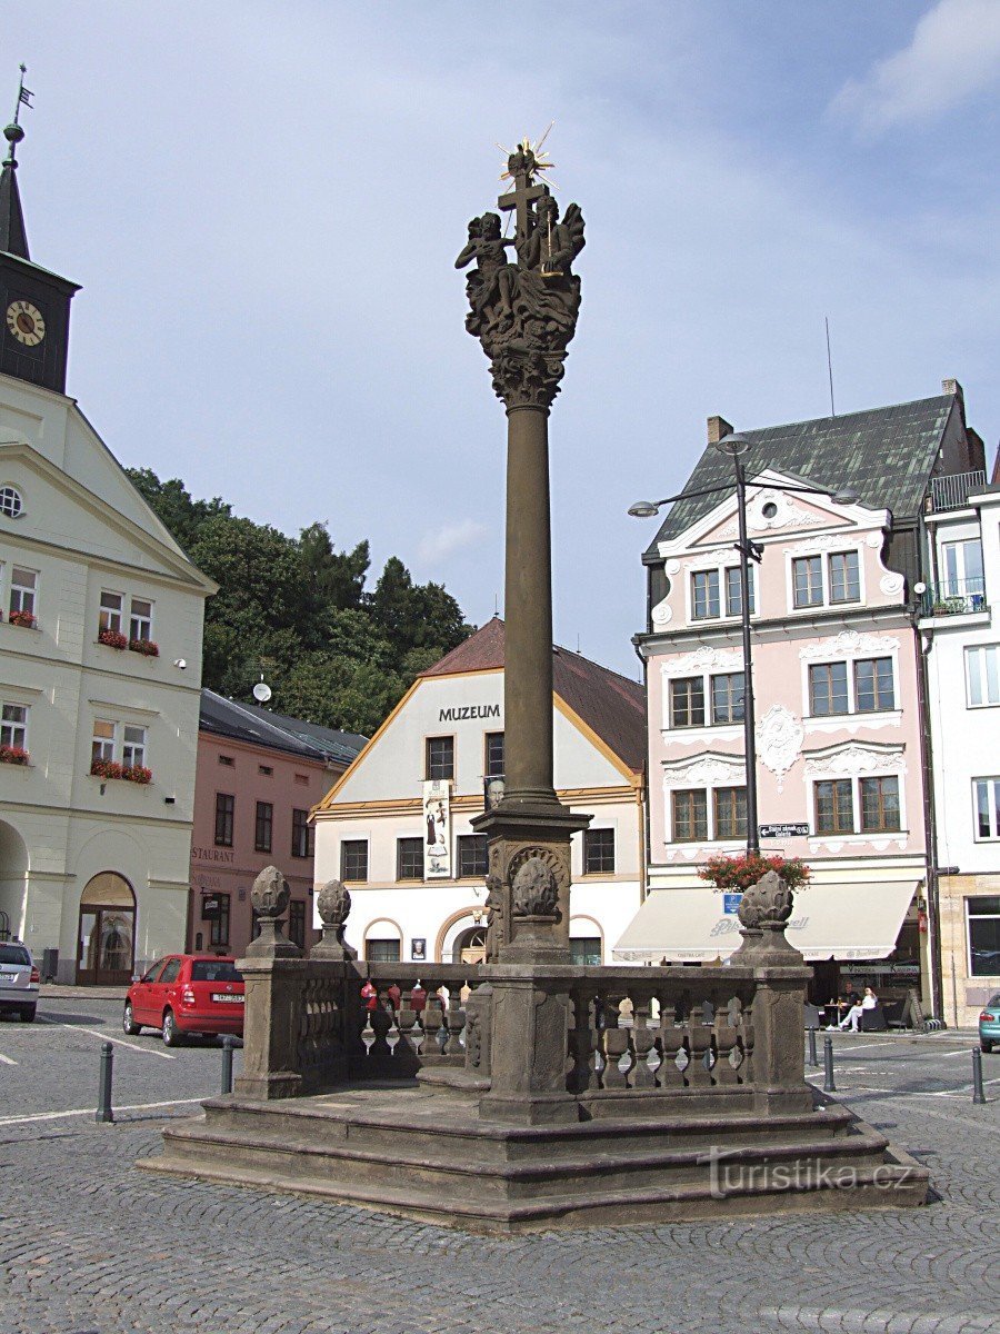
<svg viewBox="0 0 1000 1334"><path fill-rule="evenodd" d="M960 391L843 418L748 431L760 847L812 870L789 939L813 963L813 999L852 986L931 987L924 687L913 586L932 476L979 466ZM685 490L725 486L732 431ZM851 487L857 503L789 494ZM737 895L699 868L747 839L744 660L736 496L677 502L644 556L649 898L615 951L696 963L740 943ZM933 935L933 928L931 931ZM932 942L933 943L933 942Z"/></svg>

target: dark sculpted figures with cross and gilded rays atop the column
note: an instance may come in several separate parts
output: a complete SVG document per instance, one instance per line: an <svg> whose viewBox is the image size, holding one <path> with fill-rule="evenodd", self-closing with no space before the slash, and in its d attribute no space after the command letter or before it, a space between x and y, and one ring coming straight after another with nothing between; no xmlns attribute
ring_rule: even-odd
<svg viewBox="0 0 1000 1334"><path fill-rule="evenodd" d="M535 184L539 163L527 143L507 165L515 188L500 207L516 209L515 235L503 236L499 213L473 217L455 267L476 263L465 283L465 328L489 358L497 396L508 408L548 408L576 332L580 279L572 264L584 247L584 220L576 204L560 219L548 187Z"/></svg>

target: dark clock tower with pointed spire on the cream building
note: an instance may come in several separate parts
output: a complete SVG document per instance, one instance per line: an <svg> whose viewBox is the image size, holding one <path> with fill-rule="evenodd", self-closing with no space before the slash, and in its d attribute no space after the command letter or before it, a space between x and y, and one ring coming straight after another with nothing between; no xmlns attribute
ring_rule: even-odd
<svg viewBox="0 0 1000 1334"><path fill-rule="evenodd" d="M17 112L25 100L19 97ZM69 303L80 288L33 264L28 253L17 189L17 144L24 139L17 112L4 129L8 151L0 173L0 375L65 394Z"/></svg>

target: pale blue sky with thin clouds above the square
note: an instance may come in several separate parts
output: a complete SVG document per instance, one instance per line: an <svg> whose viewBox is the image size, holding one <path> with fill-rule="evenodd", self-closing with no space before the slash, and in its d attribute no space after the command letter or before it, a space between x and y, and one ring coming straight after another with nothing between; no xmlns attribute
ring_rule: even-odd
<svg viewBox="0 0 1000 1334"><path fill-rule="evenodd" d="M737 427L965 388L1000 431L997 0L45 0L32 257L123 463L372 540L483 623L505 419L453 259L537 137L588 244L551 423L556 638L636 675L636 496ZM501 603L503 604L503 603Z"/></svg>

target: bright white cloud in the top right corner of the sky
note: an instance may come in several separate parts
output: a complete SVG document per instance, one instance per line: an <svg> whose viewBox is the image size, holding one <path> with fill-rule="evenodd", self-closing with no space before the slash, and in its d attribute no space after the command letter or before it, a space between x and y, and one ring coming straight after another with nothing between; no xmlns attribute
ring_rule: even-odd
<svg viewBox="0 0 1000 1334"><path fill-rule="evenodd" d="M908 47L877 61L863 79L848 80L829 109L879 133L931 120L997 77L997 0L939 0L917 23Z"/></svg>

